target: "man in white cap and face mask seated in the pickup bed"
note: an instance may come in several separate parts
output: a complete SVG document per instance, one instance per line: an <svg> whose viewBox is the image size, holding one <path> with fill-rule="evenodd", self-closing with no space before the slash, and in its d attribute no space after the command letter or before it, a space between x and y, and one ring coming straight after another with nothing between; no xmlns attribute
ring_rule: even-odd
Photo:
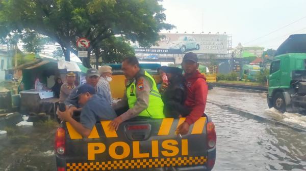
<svg viewBox="0 0 306 171"><path fill-rule="evenodd" d="M106 93L107 100L111 105L115 104L116 100L112 97L110 82L112 81L112 67L103 65L99 67L100 79L97 86L103 89Z"/></svg>

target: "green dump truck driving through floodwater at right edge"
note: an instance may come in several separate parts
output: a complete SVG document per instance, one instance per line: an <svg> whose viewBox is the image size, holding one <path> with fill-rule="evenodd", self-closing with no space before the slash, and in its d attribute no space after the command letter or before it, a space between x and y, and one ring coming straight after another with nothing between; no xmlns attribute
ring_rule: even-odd
<svg viewBox="0 0 306 171"><path fill-rule="evenodd" d="M306 109L306 34L291 35L270 66L267 102L281 112Z"/></svg>

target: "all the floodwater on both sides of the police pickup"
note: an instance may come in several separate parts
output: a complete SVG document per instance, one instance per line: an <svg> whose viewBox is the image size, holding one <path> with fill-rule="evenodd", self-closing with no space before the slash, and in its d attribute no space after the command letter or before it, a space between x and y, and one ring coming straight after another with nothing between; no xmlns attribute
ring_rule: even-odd
<svg viewBox="0 0 306 171"><path fill-rule="evenodd" d="M299 114L268 109L266 94L226 88L209 91L209 101L251 113L302 123ZM207 104L217 132L217 158L213 170L306 170L306 133L247 119ZM0 171L55 170L56 126L13 127L0 135Z"/></svg>

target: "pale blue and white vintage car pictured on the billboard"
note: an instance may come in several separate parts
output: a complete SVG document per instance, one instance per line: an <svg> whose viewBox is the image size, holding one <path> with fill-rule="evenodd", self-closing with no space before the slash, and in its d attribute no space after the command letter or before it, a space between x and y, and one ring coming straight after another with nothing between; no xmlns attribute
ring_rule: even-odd
<svg viewBox="0 0 306 171"><path fill-rule="evenodd" d="M177 41L170 42L169 49L180 49L185 52L191 49L199 50L200 45L192 36L181 36Z"/></svg>

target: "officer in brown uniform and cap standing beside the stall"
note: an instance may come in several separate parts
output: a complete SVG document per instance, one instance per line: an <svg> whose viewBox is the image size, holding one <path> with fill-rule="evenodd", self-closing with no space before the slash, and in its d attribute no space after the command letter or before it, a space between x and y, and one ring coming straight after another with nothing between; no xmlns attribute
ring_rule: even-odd
<svg viewBox="0 0 306 171"><path fill-rule="evenodd" d="M66 81L61 86L60 103L63 103L66 100L66 98L69 96L71 90L75 88L74 81L75 81L75 74L72 71L68 72L66 74Z"/></svg>

